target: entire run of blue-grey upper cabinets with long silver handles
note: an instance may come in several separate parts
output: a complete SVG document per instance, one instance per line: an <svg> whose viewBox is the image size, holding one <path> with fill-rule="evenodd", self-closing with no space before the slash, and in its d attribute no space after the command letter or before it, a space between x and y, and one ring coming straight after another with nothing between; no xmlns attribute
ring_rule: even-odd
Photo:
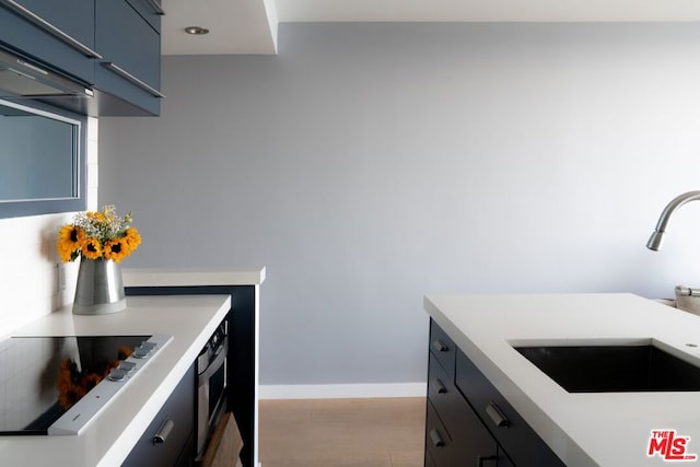
<svg viewBox="0 0 700 467"><path fill-rule="evenodd" d="M0 0L0 48L95 91L46 103L92 116L159 115L160 0Z"/></svg>

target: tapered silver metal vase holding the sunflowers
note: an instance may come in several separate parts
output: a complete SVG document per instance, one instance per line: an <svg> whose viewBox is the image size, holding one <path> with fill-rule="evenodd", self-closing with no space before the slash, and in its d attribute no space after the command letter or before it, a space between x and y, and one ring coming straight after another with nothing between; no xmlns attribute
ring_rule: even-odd
<svg viewBox="0 0 700 467"><path fill-rule="evenodd" d="M80 260L73 300L75 315L106 315L127 307L121 268L110 259Z"/></svg>

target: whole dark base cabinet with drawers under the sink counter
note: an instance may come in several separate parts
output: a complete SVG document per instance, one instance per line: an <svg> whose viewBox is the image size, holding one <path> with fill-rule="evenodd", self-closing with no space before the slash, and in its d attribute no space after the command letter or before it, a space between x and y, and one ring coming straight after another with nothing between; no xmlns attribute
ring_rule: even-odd
<svg viewBox="0 0 700 467"><path fill-rule="evenodd" d="M425 412L429 466L564 466L432 319Z"/></svg>

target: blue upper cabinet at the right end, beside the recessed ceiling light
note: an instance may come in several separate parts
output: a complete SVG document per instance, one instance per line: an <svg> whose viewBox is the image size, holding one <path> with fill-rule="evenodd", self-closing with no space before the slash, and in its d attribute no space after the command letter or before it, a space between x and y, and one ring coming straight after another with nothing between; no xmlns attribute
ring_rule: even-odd
<svg viewBox="0 0 700 467"><path fill-rule="evenodd" d="M118 97L101 100L101 115L160 114L161 13L155 0L95 1L95 86Z"/></svg>

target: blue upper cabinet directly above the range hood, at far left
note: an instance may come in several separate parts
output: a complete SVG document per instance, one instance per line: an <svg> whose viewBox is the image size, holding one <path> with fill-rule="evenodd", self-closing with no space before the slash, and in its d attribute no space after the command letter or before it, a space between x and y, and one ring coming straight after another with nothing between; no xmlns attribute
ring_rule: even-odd
<svg viewBox="0 0 700 467"><path fill-rule="evenodd" d="M0 44L94 83L95 0L0 0Z"/></svg>

